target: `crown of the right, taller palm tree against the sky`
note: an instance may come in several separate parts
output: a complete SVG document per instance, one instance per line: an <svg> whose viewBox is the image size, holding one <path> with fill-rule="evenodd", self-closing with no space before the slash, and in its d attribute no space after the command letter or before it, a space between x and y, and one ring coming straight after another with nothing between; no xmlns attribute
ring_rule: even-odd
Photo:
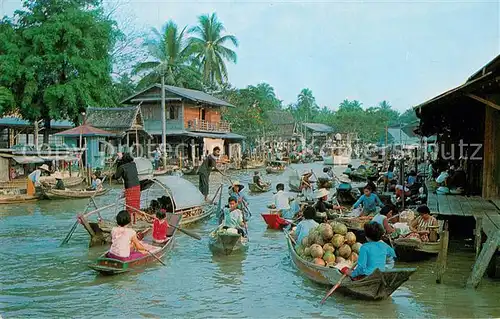
<svg viewBox="0 0 500 319"><path fill-rule="evenodd" d="M225 61L236 63L236 52L225 46L231 42L235 47L238 40L234 35L222 35L226 29L217 19L217 14L205 14L198 17L199 25L191 28L190 44L203 75L203 81L209 85L218 85L227 81Z"/></svg>

